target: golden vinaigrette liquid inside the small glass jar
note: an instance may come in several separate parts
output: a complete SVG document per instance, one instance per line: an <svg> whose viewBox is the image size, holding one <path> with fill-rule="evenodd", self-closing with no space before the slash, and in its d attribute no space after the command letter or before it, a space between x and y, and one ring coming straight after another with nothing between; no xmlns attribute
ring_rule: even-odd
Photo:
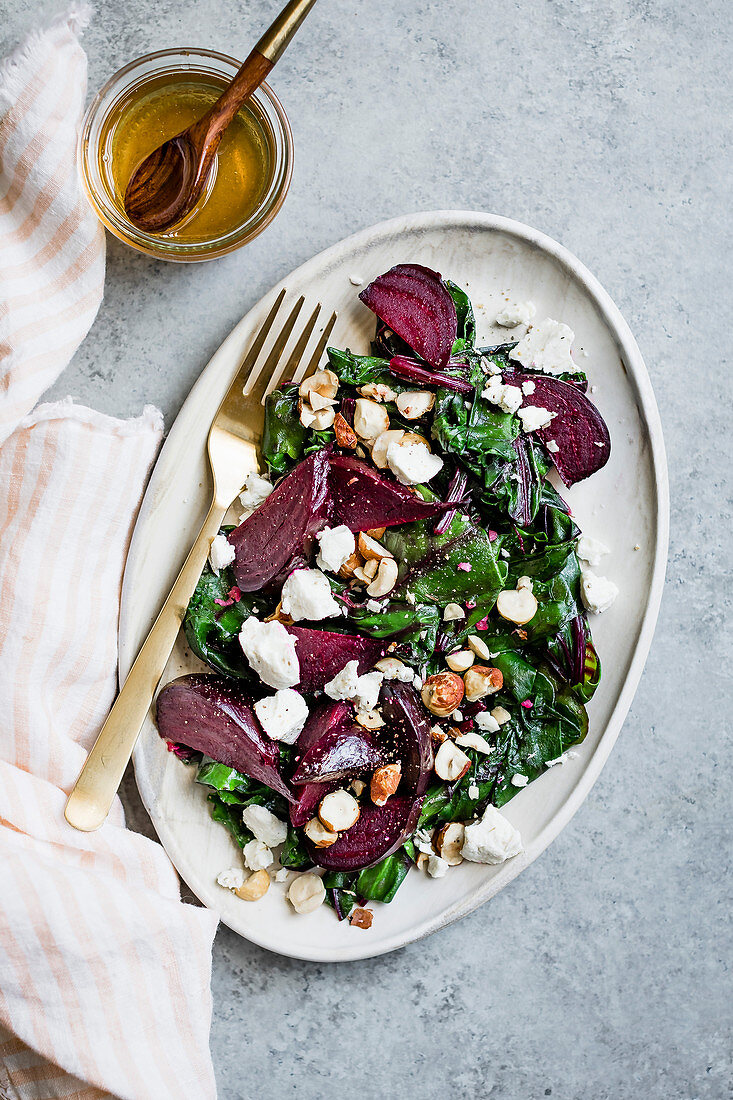
<svg viewBox="0 0 733 1100"><path fill-rule="evenodd" d="M149 153L205 114L226 85L209 76L166 74L132 89L106 120L99 168L123 211L130 176ZM225 133L201 199L192 213L161 237L211 241L241 226L256 209L271 173L267 133L244 105Z"/></svg>

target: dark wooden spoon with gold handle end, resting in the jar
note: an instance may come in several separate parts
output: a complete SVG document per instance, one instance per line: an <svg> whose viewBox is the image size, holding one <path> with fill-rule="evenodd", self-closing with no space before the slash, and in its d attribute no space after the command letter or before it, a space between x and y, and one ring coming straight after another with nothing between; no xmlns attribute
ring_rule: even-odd
<svg viewBox="0 0 733 1100"><path fill-rule="evenodd" d="M194 208L225 130L260 87L315 2L291 0L206 114L135 168L124 193L124 211L133 224L146 233L162 233Z"/></svg>

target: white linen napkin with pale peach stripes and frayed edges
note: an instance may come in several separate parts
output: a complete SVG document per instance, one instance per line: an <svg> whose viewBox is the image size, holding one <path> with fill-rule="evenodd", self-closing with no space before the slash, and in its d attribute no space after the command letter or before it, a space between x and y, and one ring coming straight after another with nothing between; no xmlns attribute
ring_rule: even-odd
<svg viewBox="0 0 733 1100"><path fill-rule="evenodd" d="M215 1097L215 914L163 849L64 820L116 691L122 569L162 436L61 402L30 411L101 299L75 169L86 91L57 19L0 67L0 1098Z"/></svg>

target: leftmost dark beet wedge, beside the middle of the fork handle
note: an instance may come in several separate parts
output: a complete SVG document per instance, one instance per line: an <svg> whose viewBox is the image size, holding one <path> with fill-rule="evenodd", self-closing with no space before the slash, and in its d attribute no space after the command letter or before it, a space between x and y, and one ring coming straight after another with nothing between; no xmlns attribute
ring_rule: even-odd
<svg viewBox="0 0 733 1100"><path fill-rule="evenodd" d="M277 771L280 747L260 730L251 697L236 683L203 673L179 676L157 696L156 717L166 741L204 752L294 801Z"/></svg>

